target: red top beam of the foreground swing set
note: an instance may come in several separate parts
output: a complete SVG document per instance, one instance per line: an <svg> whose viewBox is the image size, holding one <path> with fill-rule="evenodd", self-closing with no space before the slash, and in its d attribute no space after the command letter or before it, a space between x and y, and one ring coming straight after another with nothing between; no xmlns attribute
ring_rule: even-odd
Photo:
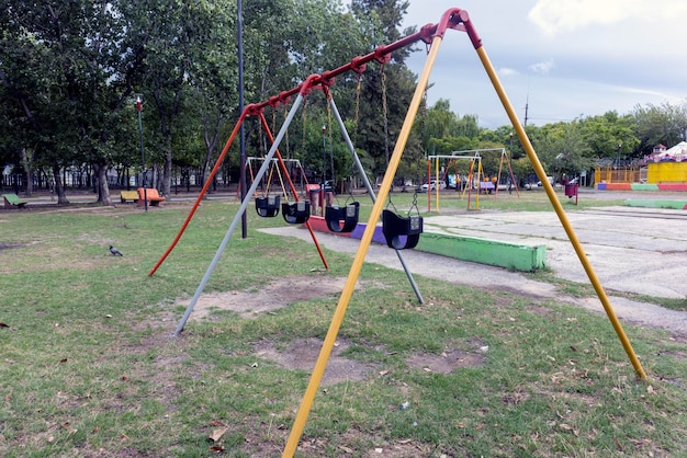
<svg viewBox="0 0 687 458"><path fill-rule="evenodd" d="M350 62L339 68L326 70L322 72L322 75L311 75L305 81L289 91L280 92L278 95L271 96L264 102L247 105L246 113L249 115L256 115L268 106L275 107L279 106L279 104L285 105L293 95L299 93L301 95L307 95L313 88L317 85L329 87L334 84L336 77L339 75L344 75L348 71L354 71L357 73L364 72L367 64L373 60L380 64L386 64L391 60L392 53L403 49L416 42L425 42L429 45L435 36L443 38L446 31L449 28L465 32L475 49L482 46L482 41L470 22L468 11L459 8L452 8L447 10L441 15L441 20L437 24L424 25L419 32L408 35L405 38L401 38L390 45L379 46L372 53L354 57Z"/></svg>

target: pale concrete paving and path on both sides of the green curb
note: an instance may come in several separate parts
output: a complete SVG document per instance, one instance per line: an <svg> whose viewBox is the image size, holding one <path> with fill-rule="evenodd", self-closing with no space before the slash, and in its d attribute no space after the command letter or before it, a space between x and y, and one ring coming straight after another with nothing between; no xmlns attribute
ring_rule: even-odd
<svg viewBox="0 0 687 458"><path fill-rule="evenodd" d="M687 298L685 211L604 207L570 213L567 217L596 275L607 289L618 317L687 336L687 312L612 295L612 290L618 290L663 298ZM676 219L671 219L673 217ZM464 215L441 215L426 218L425 230L523 244L545 244L548 266L555 276L589 284L579 259L553 211L473 211ZM312 241L307 230L293 226L266 231ZM359 247L359 240L319 232L317 240L323 247L334 251L356 253ZM528 296L556 297L602 312L597 298L561 298L552 285L528 279L517 272L413 250L404 251L403 256L414 275ZM365 262L402 268L396 253L385 245L372 244Z"/></svg>

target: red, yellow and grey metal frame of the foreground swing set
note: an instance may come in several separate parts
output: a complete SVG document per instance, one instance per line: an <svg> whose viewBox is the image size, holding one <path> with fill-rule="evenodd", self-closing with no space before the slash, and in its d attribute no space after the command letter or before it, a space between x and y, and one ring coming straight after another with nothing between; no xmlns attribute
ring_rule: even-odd
<svg viewBox="0 0 687 458"><path fill-rule="evenodd" d="M185 320L188 319L188 316L190 314L191 310L192 310L192 306L195 304L195 301L198 301L198 298L200 296L200 294L202 293L210 274L212 273L215 264L218 261L219 255L222 254L222 252L224 251L224 249L226 248L226 244L229 241L229 238L234 231L234 229L236 228L236 225L238 222L238 220L240 219L240 216L246 211L246 207L248 206L248 201L250 198L250 196L256 192L256 188L258 186L258 181L261 179L261 176L266 173L268 165L271 161L271 159L273 157L277 157L279 162L280 162L280 168L282 169L282 171L285 173L286 169L285 165L283 163L283 161L281 160L281 156L279 154L278 151L278 146L280 145L282 138L284 137L285 130L289 126L289 124L291 123L291 121L293 119L294 113L295 111L299 108L299 106L301 105L301 103L303 102L303 98L305 98L311 91L313 91L314 89L320 89L323 90L323 92L325 92L327 100L329 101L330 105L333 106L335 113L338 115L338 112L336 112L336 105L334 105L330 93L329 93L329 87L334 83L334 78L348 72L348 71L356 71L356 72L363 72L365 69L365 64L370 62L372 60L376 60L379 62L383 62L385 59L388 59L388 56L391 55L391 53L405 48L416 42L424 42L427 46L428 46L428 55L427 55L427 60L425 62L425 67L423 68L423 71L419 76L418 79L418 83L417 87L415 89L415 93L413 95L413 99L409 103L408 106L408 111L406 113L406 117L404 119L403 126L401 128L399 135L398 135L398 139L394 146L394 150L393 153L390 157L388 160L388 164L386 168L386 172L384 174L384 179L382 180L380 190L379 190L379 194L376 196L374 196L373 193L371 193L372 188L369 184L369 182L365 180L365 185L368 186L368 191L370 192L370 195L373 196L373 201L374 201L374 205L370 211L370 217L368 220L368 224L365 226L364 232L360 239L360 244L358 248L358 251L356 253L356 256L353 259L351 268L349 271L348 277L346 279L346 283L344 285L344 289L341 291L341 296L337 302L336 306L336 310L334 312L331 322L329 324L329 329L327 331L327 334L325 336L325 340L323 342L323 346L322 350L319 352L319 356L317 358L317 362L315 363L315 367L313 368L313 373L311 375L311 379L308 381L307 388L305 390L305 393L303 396L301 405L296 412L296 416L294 419L294 423L293 426L290 431L289 434L289 438L286 440L284 450L282 453L282 456L284 457L291 457L295 454L296 447L299 445L300 438L302 436L303 430L305 427L305 422L307 420L307 416L309 414L313 401L315 399L315 396L318 391L319 388L319 383L322 381L322 378L324 376L325 373L325 368L327 365L327 362L329 359L329 356L331 354L331 351L334 348L334 344L336 342L339 329L341 327L341 323L344 321L345 314L346 314L346 310L348 308L348 305L350 302L352 293L354 290L356 284L358 282L358 277L360 275L360 272L362 270L362 265L364 262L364 257L365 254L368 252L368 249L370 247L370 243L372 241L372 237L373 233L375 231L375 226L376 222L380 220L380 217L382 216L382 210L383 210L383 203L386 199L386 197L388 196L392 183L393 183L393 179L396 174L396 170L398 168L398 164L401 162L401 157L403 154L403 151L405 149L406 142L408 140L409 134L410 134L410 129L413 127L414 124L414 119L417 115L417 112L419 110L420 103L423 101L424 98L424 93L426 91L426 88L428 85L429 82L429 75L431 71L431 68L435 65L435 61L437 59L437 55L439 53L439 47L443 41L443 36L446 34L446 32L448 30L455 30L455 31L460 31L460 32L464 32L468 37L470 38L486 73L487 77L489 78L489 81L492 83L492 85L494 87L494 90L496 91L503 106L504 110L506 111L506 114L508 115L508 118L510 119L510 123L513 124L513 127L516 131L516 134L518 135L518 138L521 142L521 145L525 148L525 151L530 160L530 162L532 163L532 167L534 169L534 171L537 172L537 175L539 176L539 179L541 180L544 191L547 193L547 196L549 197L549 201L551 202L551 205L554 208L554 211L556 213L559 220L561 221L561 225L563 226L571 243L573 244L573 248L575 249L575 252L579 259L579 262L582 263L585 272L587 273L589 280L592 283L592 285L594 286L596 294L598 296L598 298L600 299L601 305L604 306L604 309L608 316L609 321L611 322L618 339L620 340L630 362L633 365L633 368L635 370L635 374L638 375L638 377L640 377L641 379L646 379L646 374L644 373L644 369L642 368L639 358L637 357L634 351L632 350L632 346L630 344L630 341L628 340L622 325L620 324L611 305L610 301L608 299L608 296L606 295L606 291L604 290L602 286L599 283L598 277L596 276L596 273L594 272L594 268L592 267L586 253L584 252L584 249L582 248L579 240L577 239L577 236L575 233L575 231L573 230L567 216L565 215L565 211L561 205L561 203L558 199L558 196L552 187L552 185L549 183L549 181L547 180L547 174L544 172L543 167L541 165L541 162L539 161L539 158L534 151L534 149L532 148L532 145L525 131L525 128L521 126L518 116L513 107L513 105L510 104L510 101L508 100L506 92L498 79L498 76L494 69L494 67L492 66L489 58L486 54L486 51L484 50L484 47L482 45L482 41L478 37L474 25L472 24L469 14L466 11L458 9L458 8L453 8L450 9L448 11L446 11L443 13L443 15L441 16L441 20L439 21L439 23L437 24L427 24L425 26L423 26L420 28L419 32L408 35L405 38L402 38L393 44L390 45L382 45L380 47L378 47L373 53L368 54L365 56L359 56L353 58L349 64L339 67L337 69L330 70L330 71L325 71L322 75L312 75L311 77L308 77L305 81L303 81L301 84L299 84L296 88L290 90L290 91L285 91L282 92L281 94L279 94L278 96L271 98L270 100L268 100L267 102L262 102L259 104L251 104L246 106L246 108L244 110L244 112L240 114L239 119L234 128L234 130L232 131L232 135L226 144L226 146L224 147L224 149L222 150L222 153L219 154L219 158L217 159L217 162L215 164L215 167L213 168L211 175L209 178L209 180L206 181L205 186L203 187L203 190L201 191L198 201L196 201L196 205L193 206L193 208L191 209L189 216L187 217L187 220L184 221L181 231L179 232L179 234L177 236L177 238L174 239L174 241L172 242L172 245L168 249L168 251L165 253L165 255L162 256L162 259L160 261L158 261L158 263L156 264L156 266L151 270L151 272L149 273L149 275L153 275L155 270L160 265L160 263L164 261L164 259L169 254L169 252L173 249L173 245L177 243L177 241L179 240L179 238L181 237L181 233L183 232L183 229L185 228L185 226L188 225L189 220L191 219L193 213L195 211L198 204L200 203L200 201L203 198L203 195L205 194L205 192L207 191L207 186L209 184L212 182L213 176L216 174L217 169L219 167L219 164L222 163L222 161L224 160L229 146L232 145L232 142L234 141L234 138L236 137L239 127L241 126L241 124L244 123L244 121L246 119L247 116L258 116L260 118L260 122L262 123L263 127L266 128L269 137L270 137L270 142L271 142L271 148L268 152L268 154L266 156L266 160L262 163L262 165L260 167L260 170L258 171L257 175L256 175L256 181L252 183L252 185L250 186L250 190L248 191L246 198L244 198L244 201L241 202L241 206L239 208L239 210L237 211L236 217L234 218L234 221L232 222L232 226L229 227L229 230L227 231L227 234L225 236L224 240L222 241L222 244L219 245L219 249L217 250L217 253L215 254L215 257L213 259L213 262L211 263L210 268L207 270L207 272L205 273L205 276L203 277L203 280L201 282L201 285L199 286L193 299L191 300L191 304L189 305L189 308L187 308L187 312L184 313L184 317L182 318L181 322L179 323L179 327L177 328L176 334L178 334L182 327L183 323L185 322ZM275 139L272 139L271 137L271 133L269 131L268 127L267 127L267 122L264 121L264 116L262 114L264 107L267 106L277 106L278 104L285 104L289 102L291 96L296 96L295 101L292 104L291 111L289 112L289 115L286 116L286 121L284 122L284 124L282 125L279 134L277 135ZM339 123L340 127L342 127L342 122L340 119L340 116L337 117L337 122ZM348 137L348 134L346 133L346 129L342 128L341 129L342 135L345 136L345 138L347 139L347 144L349 149L352 149L354 152L354 149L352 148L352 144L350 142L350 138ZM357 160L357 157L353 154L353 160ZM357 161L359 163L359 160ZM362 175L364 175L364 173L362 173ZM290 186L292 186L292 194L294 196L296 196L295 193L295 188L293 187L293 183L289 180ZM296 196L297 199L297 196ZM297 202L296 202L297 204ZM283 208L283 207L282 207ZM306 221L307 225L307 221ZM403 231L405 231L407 233L406 237L412 237L413 233L410 233L413 230L417 230L418 226L421 228L421 219L415 219L415 221L413 221L413 219L410 218L410 222L406 224L404 222L403 225L398 225L398 226L403 226ZM309 227L309 226L308 226ZM312 230L311 230L312 232ZM401 236L401 233L399 233ZM314 238L314 236L313 236ZM392 237L393 239L393 237ZM316 239L314 238L315 243ZM393 242L391 244L394 244ZM406 244L408 247L405 248L409 248L410 243ZM396 251L397 253L399 253L399 251ZM324 259L323 259L324 262Z"/></svg>

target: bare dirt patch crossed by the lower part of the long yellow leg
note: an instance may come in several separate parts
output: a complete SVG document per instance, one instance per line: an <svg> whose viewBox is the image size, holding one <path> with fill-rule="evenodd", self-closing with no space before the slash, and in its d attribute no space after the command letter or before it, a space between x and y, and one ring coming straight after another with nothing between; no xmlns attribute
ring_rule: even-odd
<svg viewBox="0 0 687 458"><path fill-rule="evenodd" d="M278 350L272 342L262 342L255 346L256 356L271 359L288 369L301 369L312 373L319 356L323 341L315 337L299 339L283 350ZM339 340L334 344L320 386L336 385L341 381L364 380L378 366L341 356L350 343Z"/></svg>

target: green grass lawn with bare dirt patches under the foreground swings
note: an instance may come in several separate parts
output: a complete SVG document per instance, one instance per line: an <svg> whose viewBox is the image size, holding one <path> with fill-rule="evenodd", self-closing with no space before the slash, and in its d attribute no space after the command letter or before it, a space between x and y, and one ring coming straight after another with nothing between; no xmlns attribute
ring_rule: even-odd
<svg viewBox="0 0 687 458"><path fill-rule="evenodd" d="M480 206L551 209L529 194ZM0 213L0 456L281 455L352 256L249 207L173 337L237 208L204 202L153 277L190 204ZM296 456L687 456L687 336L623 324L644 382L606 317L415 279L424 306L363 266Z"/></svg>

